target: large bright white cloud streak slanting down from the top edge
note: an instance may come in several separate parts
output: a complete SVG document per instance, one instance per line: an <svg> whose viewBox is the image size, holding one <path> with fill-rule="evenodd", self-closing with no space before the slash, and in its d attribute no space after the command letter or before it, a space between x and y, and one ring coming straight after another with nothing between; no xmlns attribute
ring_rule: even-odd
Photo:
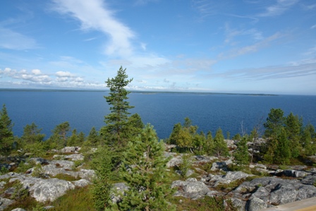
<svg viewBox="0 0 316 211"><path fill-rule="evenodd" d="M110 41L104 52L110 56L128 56L132 54L131 40L135 34L130 28L114 18L101 0L53 0L55 10L67 14L81 23L82 30L98 30L109 35Z"/></svg>

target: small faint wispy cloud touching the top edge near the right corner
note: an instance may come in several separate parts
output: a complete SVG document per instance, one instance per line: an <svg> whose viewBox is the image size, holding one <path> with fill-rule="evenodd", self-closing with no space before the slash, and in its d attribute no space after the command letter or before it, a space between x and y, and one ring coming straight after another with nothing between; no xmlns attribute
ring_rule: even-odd
<svg viewBox="0 0 316 211"><path fill-rule="evenodd" d="M279 16L287 11L291 6L298 3L298 0L277 0L276 4L265 8L265 12L260 13L260 17Z"/></svg>

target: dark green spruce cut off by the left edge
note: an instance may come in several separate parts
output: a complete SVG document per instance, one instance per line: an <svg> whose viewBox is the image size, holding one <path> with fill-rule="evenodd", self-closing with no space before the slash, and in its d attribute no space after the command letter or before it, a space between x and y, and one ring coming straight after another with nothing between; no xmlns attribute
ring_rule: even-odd
<svg viewBox="0 0 316 211"><path fill-rule="evenodd" d="M8 116L6 105L4 104L0 111L0 154L8 155L13 143L13 123Z"/></svg>

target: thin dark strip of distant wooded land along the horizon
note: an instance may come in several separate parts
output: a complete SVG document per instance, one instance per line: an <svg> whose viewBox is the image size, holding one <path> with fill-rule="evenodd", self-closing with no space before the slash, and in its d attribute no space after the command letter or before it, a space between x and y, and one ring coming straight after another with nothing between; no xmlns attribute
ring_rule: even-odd
<svg viewBox="0 0 316 211"><path fill-rule="evenodd" d="M279 96L276 94L262 93L231 93L231 92L174 92L174 91L142 91L129 90L131 93L154 95L160 93L168 94L194 94L194 95L249 95L249 96ZM0 92L109 92L109 90L75 90L75 89L29 89L29 88L0 88Z"/></svg>

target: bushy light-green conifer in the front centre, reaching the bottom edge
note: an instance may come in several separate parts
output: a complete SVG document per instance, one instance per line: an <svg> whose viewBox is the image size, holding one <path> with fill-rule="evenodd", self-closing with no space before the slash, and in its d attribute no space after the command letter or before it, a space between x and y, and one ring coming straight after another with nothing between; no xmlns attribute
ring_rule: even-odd
<svg viewBox="0 0 316 211"><path fill-rule="evenodd" d="M135 140L128 143L121 165L121 176L130 187L118 210L175 210L166 197L173 193L164 157L164 143L147 124Z"/></svg>

